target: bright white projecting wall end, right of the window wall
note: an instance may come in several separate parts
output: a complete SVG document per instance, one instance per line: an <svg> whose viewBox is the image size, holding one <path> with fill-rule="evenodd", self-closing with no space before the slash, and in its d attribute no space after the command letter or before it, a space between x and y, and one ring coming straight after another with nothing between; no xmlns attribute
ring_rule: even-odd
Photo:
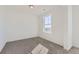
<svg viewBox="0 0 79 59"><path fill-rule="evenodd" d="M69 50L72 48L72 6L68 6L67 20L65 21L65 38L64 49Z"/></svg>

